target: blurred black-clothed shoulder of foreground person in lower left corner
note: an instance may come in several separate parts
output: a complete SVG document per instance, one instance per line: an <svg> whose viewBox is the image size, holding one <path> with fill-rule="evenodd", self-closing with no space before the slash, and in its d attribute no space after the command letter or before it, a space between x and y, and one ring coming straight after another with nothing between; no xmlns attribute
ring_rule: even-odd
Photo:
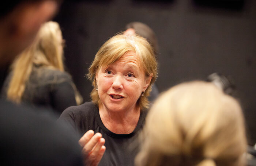
<svg viewBox="0 0 256 166"><path fill-rule="evenodd" d="M70 129L51 112L0 100L0 165L82 166Z"/></svg>

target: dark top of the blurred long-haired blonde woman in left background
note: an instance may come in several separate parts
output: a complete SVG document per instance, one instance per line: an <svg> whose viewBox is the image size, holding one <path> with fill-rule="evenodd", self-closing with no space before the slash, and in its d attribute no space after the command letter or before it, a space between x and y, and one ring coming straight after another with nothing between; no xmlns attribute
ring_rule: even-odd
<svg viewBox="0 0 256 166"><path fill-rule="evenodd" d="M6 97L12 72L7 76L2 96ZM75 85L71 76L60 70L34 66L26 83L22 102L52 108L61 114L64 109L76 105Z"/></svg>

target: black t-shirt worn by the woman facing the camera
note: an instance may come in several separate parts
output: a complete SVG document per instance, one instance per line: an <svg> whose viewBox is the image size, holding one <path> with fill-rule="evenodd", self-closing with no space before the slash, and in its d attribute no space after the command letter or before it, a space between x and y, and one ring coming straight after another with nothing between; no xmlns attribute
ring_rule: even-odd
<svg viewBox="0 0 256 166"><path fill-rule="evenodd" d="M146 113L147 111L141 111L138 124L130 134L115 134L108 130L101 121L97 105L92 102L67 108L60 120L71 124L80 136L88 130L102 134L102 138L106 140L106 151L99 166L133 166L134 157L138 153L136 138L144 125Z"/></svg>

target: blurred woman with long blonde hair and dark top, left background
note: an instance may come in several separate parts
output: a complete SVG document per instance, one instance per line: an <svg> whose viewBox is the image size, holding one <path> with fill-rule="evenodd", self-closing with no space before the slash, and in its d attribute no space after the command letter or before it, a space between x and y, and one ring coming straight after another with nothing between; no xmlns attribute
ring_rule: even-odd
<svg viewBox="0 0 256 166"><path fill-rule="evenodd" d="M59 24L44 23L32 45L12 64L3 95L15 103L50 107L59 113L80 104L82 98L64 72L63 42Z"/></svg>

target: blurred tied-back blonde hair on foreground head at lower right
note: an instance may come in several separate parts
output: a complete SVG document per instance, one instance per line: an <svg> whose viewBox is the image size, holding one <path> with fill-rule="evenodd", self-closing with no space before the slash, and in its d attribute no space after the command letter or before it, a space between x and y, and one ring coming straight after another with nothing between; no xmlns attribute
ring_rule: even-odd
<svg viewBox="0 0 256 166"><path fill-rule="evenodd" d="M244 166L246 137L238 102L215 85L167 90L146 118L136 166Z"/></svg>

